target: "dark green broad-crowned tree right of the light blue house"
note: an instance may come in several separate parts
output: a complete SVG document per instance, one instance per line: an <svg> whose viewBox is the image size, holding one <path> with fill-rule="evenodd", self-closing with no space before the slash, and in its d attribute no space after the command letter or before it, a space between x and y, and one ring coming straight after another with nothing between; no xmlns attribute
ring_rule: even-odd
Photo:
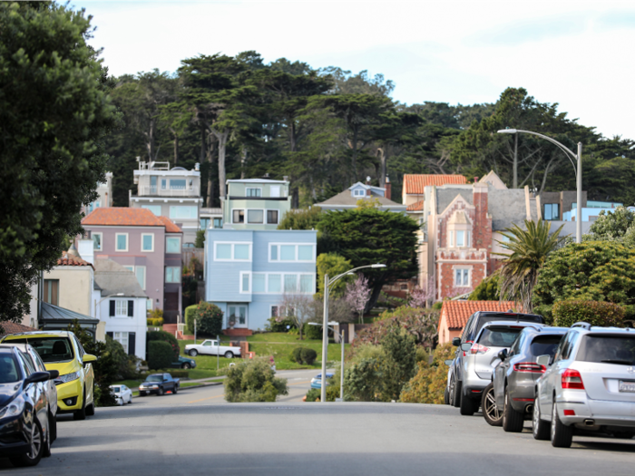
<svg viewBox="0 0 635 476"><path fill-rule="evenodd" d="M417 229L415 220L378 209L329 212L318 223L318 230L328 240L329 251L348 259L352 267L386 265L364 270L372 289L366 312L375 306L386 283L416 276Z"/></svg>

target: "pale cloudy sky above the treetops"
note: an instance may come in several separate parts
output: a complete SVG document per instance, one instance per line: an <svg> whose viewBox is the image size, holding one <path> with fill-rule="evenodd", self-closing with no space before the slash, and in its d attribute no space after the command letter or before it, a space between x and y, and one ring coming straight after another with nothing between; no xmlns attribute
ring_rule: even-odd
<svg viewBox="0 0 635 476"><path fill-rule="evenodd" d="M200 53L255 50L313 68L382 73L396 101L539 102L635 140L635 2L72 0L114 75L174 72ZM513 127L510 124L510 127Z"/></svg>

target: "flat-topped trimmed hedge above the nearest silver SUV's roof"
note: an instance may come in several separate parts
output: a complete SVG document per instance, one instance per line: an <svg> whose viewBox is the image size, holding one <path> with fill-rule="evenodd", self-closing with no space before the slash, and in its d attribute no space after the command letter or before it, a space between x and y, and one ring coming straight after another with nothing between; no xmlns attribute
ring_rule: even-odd
<svg viewBox="0 0 635 476"><path fill-rule="evenodd" d="M601 301L560 301L553 305L553 325L570 327L576 322L591 325L621 326L623 306Z"/></svg>

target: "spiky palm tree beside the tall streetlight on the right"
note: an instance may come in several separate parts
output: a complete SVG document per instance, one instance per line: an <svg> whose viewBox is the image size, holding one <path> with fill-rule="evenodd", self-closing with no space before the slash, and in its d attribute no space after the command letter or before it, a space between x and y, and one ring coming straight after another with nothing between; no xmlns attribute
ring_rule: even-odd
<svg viewBox="0 0 635 476"><path fill-rule="evenodd" d="M502 233L508 241L499 241L510 253L493 253L505 257L501 268L501 299L520 303L524 312L532 312L533 287L547 256L565 239L560 238L562 225L550 234L548 221L524 220L526 229L513 225Z"/></svg>

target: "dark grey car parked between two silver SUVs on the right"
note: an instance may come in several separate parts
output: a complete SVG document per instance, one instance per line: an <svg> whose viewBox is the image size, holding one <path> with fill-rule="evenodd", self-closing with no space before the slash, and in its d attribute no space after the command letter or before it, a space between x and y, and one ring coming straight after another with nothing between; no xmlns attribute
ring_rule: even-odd
<svg viewBox="0 0 635 476"><path fill-rule="evenodd" d="M525 327L509 352L499 352L501 363L493 372L492 384L483 391L481 407L485 421L503 425L505 432L522 432L532 418L534 389L546 367L536 363L539 355L554 355L568 327Z"/></svg>

